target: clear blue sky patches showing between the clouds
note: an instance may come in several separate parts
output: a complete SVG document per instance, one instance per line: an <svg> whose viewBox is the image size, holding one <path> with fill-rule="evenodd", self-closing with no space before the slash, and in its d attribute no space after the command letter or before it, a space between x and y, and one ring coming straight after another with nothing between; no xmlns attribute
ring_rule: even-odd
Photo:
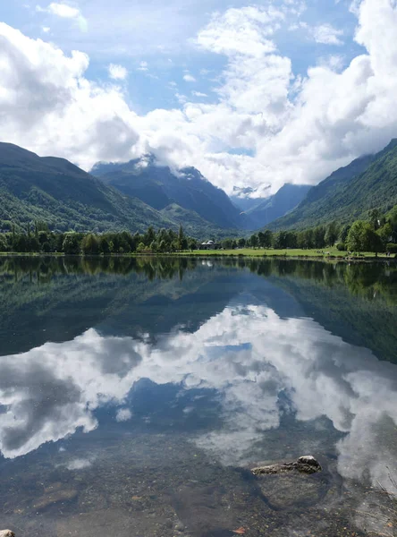
<svg viewBox="0 0 397 537"><path fill-rule="evenodd" d="M121 64L128 72L126 80L129 100L139 113L161 107L178 106L177 94L199 97L192 91L206 93L207 102L214 102L213 79L224 68L224 57L199 50L193 39L209 21L211 14L230 7L249 5L244 1L224 2L207 0L165 3L137 0L80 0L67 2L80 10L87 21L82 30L74 19L65 19L54 13L38 11L50 4L13 0L0 5L0 20L18 28L31 38L45 38L70 53L73 49L90 57L87 75L95 81L108 79L108 65ZM255 5L268 5L256 2ZM275 5L282 4L274 2ZM291 14L289 25L306 23L310 28L330 24L342 30L342 46L316 42L306 28L291 30L283 24L276 31L275 43L282 55L291 58L293 72L304 76L308 67L329 55L340 55L346 64L360 47L353 41L356 17L349 11L350 2L342 0L308 0L300 15ZM50 29L46 33L43 28ZM140 63L148 64L147 71L139 70ZM203 73L206 70L206 73ZM196 82L184 81L189 72ZM170 83L176 86L169 87Z"/></svg>

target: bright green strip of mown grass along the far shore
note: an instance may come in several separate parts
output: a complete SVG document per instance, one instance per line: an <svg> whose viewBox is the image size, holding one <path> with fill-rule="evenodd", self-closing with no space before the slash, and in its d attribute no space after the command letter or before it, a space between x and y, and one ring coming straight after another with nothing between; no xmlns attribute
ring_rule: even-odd
<svg viewBox="0 0 397 537"><path fill-rule="evenodd" d="M180 254L181 255L181 254ZM263 249L263 248L241 248L238 250L197 250L197 251L186 251L182 252L182 255L198 255L198 256L224 256L224 255L234 255L234 256L247 256L247 257L291 257L291 258L318 258L326 259L327 257L338 257L346 258L348 257L347 251L339 251L336 248L326 248L325 250L300 250L300 249L291 249L291 250L273 250L273 249ZM373 252L361 252L360 257L375 258L375 253ZM385 258L386 254L378 254L379 258ZM392 256L393 257L393 256Z"/></svg>

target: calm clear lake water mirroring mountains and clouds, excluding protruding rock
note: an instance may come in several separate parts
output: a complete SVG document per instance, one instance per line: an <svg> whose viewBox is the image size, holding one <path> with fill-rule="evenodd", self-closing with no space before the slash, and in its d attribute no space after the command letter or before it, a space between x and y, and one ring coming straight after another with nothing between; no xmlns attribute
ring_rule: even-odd
<svg viewBox="0 0 397 537"><path fill-rule="evenodd" d="M0 302L0 529L393 535L397 266L0 258Z"/></svg>

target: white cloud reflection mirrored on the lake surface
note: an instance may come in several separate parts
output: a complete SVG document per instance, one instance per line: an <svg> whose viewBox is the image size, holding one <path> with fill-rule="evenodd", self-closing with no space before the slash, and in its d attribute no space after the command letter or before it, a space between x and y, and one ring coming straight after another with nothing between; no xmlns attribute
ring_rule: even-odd
<svg viewBox="0 0 397 537"><path fill-rule="evenodd" d="M89 329L67 343L2 357L3 455L25 455L79 427L94 430L94 411L106 403L122 406L116 415L125 419L127 396L139 379L215 389L223 427L194 441L226 465L252 461L258 441L266 443L266 431L280 425L283 396L297 420L326 416L345 433L337 444L343 476L369 473L374 483L388 486L386 466L393 470L397 440L397 367L314 320L281 318L249 303L225 308L194 333L159 337L156 345Z"/></svg>

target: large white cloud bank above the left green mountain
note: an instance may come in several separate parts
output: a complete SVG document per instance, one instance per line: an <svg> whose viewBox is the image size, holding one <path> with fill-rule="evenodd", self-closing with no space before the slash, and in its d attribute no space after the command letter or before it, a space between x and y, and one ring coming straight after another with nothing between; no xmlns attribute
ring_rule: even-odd
<svg viewBox="0 0 397 537"><path fill-rule="evenodd" d="M84 77L87 55L64 55L4 23L0 43L2 140L87 168L97 160L131 157L139 141L135 114L121 90Z"/></svg>

